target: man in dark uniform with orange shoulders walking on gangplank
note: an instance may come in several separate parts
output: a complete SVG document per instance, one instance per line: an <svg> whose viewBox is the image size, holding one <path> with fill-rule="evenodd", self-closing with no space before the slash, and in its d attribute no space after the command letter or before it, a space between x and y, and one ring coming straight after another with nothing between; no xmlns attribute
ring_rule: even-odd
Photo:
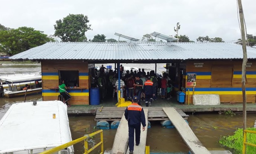
<svg viewBox="0 0 256 154"><path fill-rule="evenodd" d="M129 154L133 154L134 150L134 129L135 129L135 143L140 144L140 126L142 124L142 131L145 131L146 120L143 108L138 105L138 96L132 98L132 104L129 105L124 112L125 119L128 121L129 127Z"/></svg>

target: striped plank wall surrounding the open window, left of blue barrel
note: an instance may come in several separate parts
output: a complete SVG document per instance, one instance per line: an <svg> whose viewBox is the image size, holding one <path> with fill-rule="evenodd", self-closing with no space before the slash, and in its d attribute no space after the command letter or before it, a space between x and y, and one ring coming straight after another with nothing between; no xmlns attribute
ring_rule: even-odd
<svg viewBox="0 0 256 154"><path fill-rule="evenodd" d="M80 89L68 89L71 99L68 101L71 105L89 105L89 76L88 63L72 60L44 60L41 61L42 71L42 96L43 100L57 100L59 91L52 88L58 87L59 70L79 70L79 87L85 88L83 92Z"/></svg>

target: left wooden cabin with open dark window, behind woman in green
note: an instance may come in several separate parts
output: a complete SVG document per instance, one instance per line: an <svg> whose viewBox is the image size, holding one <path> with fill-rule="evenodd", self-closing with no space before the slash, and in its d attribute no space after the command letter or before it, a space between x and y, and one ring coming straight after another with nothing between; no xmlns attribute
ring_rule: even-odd
<svg viewBox="0 0 256 154"><path fill-rule="evenodd" d="M71 105L89 105L88 62L82 60L42 60L42 97L43 100L56 100L60 94L58 83L65 78L72 96Z"/></svg>

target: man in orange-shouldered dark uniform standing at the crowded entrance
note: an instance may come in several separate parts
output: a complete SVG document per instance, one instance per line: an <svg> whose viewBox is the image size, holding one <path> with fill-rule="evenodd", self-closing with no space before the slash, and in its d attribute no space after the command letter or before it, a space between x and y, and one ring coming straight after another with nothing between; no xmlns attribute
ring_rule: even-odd
<svg viewBox="0 0 256 154"><path fill-rule="evenodd" d="M143 86L143 93L145 94L145 103L146 106L148 107L152 105L153 102L153 97L156 94L156 88L154 87L154 83L150 81L150 76L147 77L147 81L145 81L144 86Z"/></svg>

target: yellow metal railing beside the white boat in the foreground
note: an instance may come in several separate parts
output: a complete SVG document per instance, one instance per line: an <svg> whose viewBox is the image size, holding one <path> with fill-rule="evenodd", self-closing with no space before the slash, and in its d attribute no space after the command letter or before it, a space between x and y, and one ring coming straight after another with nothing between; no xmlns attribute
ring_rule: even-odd
<svg viewBox="0 0 256 154"><path fill-rule="evenodd" d="M92 148L88 149L88 139L90 137L93 137L94 135L96 134L99 134L100 133L100 142L98 144L96 144L95 146L93 146ZM94 150L96 147L98 147L99 145L101 145L101 153L100 154L103 154L104 151L103 151L103 131L102 129L99 130L99 131L96 131L96 132L93 132L92 134L89 134L89 135L84 135L84 137L81 137L81 138L78 138L78 139L75 139L71 142L67 142L63 145L60 145L58 147L55 147L55 148L52 148L52 149L49 149L47 151L44 151L40 154L52 154L52 153L56 153L58 151L61 151L67 147L70 147L74 144L77 144L81 141L84 141L84 154L89 154L92 150Z"/></svg>

